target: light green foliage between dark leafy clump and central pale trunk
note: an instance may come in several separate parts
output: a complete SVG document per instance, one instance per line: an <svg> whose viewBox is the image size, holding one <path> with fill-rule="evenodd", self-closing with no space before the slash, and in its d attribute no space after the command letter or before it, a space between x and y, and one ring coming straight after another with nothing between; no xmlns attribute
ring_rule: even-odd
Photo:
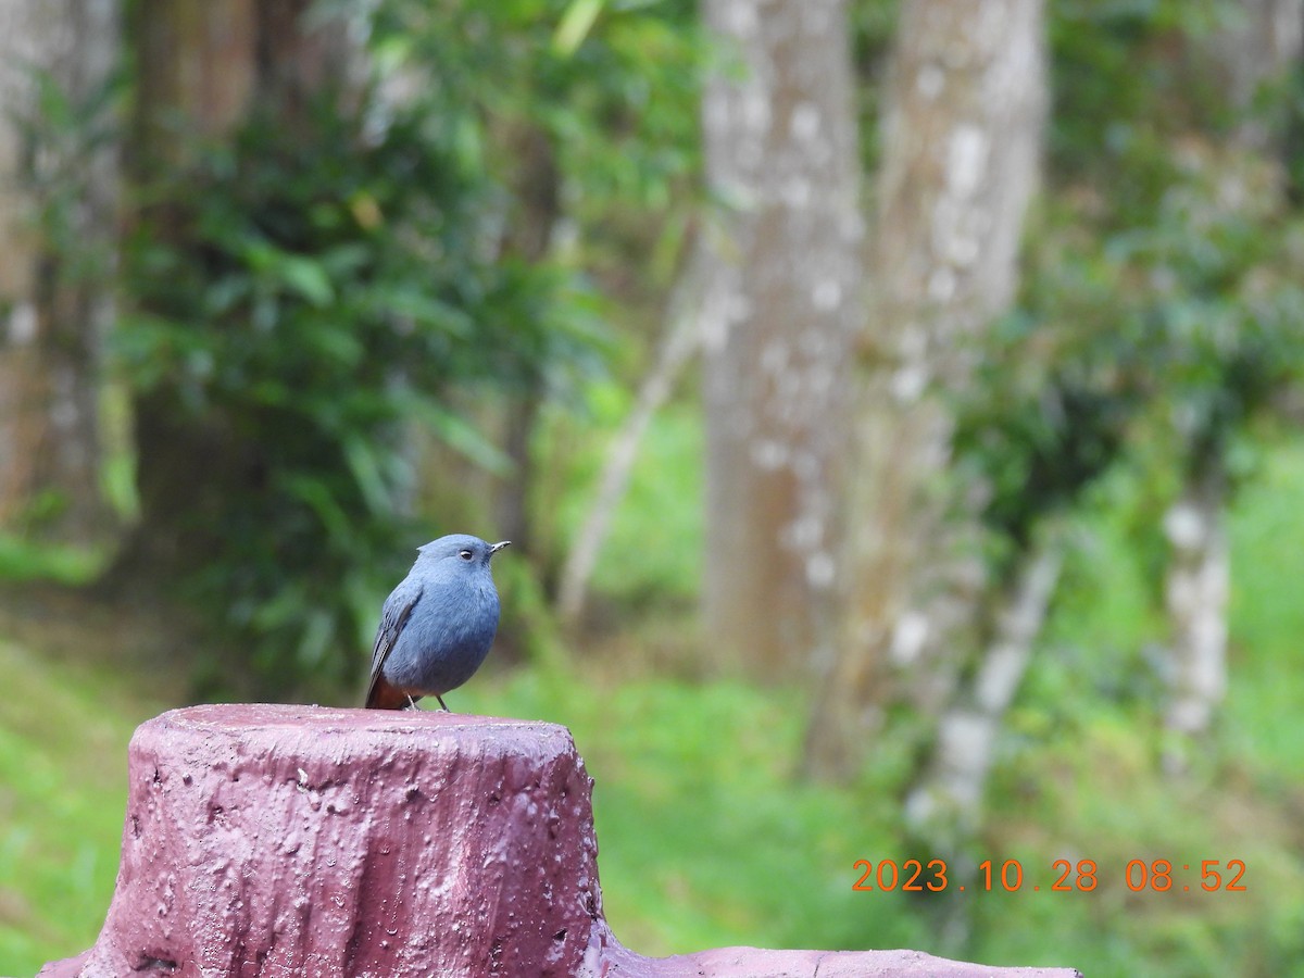
<svg viewBox="0 0 1304 978"><path fill-rule="evenodd" d="M554 222L552 259L610 296L618 333L606 352L632 386L695 220L699 68L709 53L696 5L386 0L374 35L381 72L406 65L408 74L395 77L415 89L416 111L451 120L468 164L503 189L490 202L494 220L520 227L545 215ZM509 236L509 248L528 248L531 239L520 239ZM540 415L548 422L532 438L531 546L544 569L559 565L584 503L569 477L596 471L597 442L617 424L597 404L602 391L574 394ZM567 498L561 510L558 494ZM689 498L660 519L692 522ZM687 550L675 561L694 566ZM695 570L681 588L692 578Z"/></svg>

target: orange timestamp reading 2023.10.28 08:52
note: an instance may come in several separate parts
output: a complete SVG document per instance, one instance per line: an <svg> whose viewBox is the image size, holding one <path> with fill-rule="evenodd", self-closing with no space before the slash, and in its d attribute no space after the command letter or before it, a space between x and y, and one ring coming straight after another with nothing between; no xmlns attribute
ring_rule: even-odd
<svg viewBox="0 0 1304 978"><path fill-rule="evenodd" d="M1133 893L1151 891L1191 892L1192 888L1206 893L1244 893L1247 887L1244 859L1201 859L1194 868L1192 863L1180 866L1171 859L1131 859L1123 868L1123 883ZM853 867L859 878L852 884L858 892L879 891L889 893L900 889L905 893L940 893L945 889L962 892L965 884L953 883L948 875L945 859L857 859ZM1099 884L1099 867L1094 859L1055 859L1043 882L1051 893L1090 893ZM1015 893L1021 889L1043 889L1042 883L1025 880L1024 865L1018 859L1005 859L999 866L992 859L978 863L978 879L970 889L979 892Z"/></svg>

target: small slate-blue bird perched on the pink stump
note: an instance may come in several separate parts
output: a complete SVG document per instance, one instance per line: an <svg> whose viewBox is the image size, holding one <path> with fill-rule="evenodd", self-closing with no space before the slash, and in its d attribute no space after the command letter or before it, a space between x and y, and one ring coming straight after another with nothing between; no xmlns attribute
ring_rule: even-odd
<svg viewBox="0 0 1304 978"><path fill-rule="evenodd" d="M417 548L416 563L385 600L372 647L368 709L416 709L469 679L498 631L489 561L511 541L452 533ZM451 711L450 711L451 712Z"/></svg>

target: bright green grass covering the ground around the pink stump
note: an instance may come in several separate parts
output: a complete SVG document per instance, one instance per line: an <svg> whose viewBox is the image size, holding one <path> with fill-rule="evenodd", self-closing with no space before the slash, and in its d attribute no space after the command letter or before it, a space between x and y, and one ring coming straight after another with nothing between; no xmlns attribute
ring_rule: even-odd
<svg viewBox="0 0 1304 978"><path fill-rule="evenodd" d="M682 432L662 433L670 451ZM1111 498L1009 716L977 858L1018 859L1016 893L968 892L971 934L939 936L900 892L852 892L853 862L928 857L902 837L909 758L891 739L863 778L793 778L807 704L790 690L692 683L622 655L477 677L459 711L565 722L596 778L604 902L643 953L703 947L914 947L986 964L1112 975L1304 974L1304 447L1274 450L1231 515L1231 691L1189 776L1159 773L1162 686L1138 651L1162 638ZM1116 506L1115 506L1116 509ZM622 532L679 548L690 527L623 511ZM677 527L665 532L665 527ZM691 541L690 541L691 542ZM617 552L619 548L614 548ZM682 552L649 556L656 574ZM632 559L632 558L631 558ZM621 582L630 587L629 579ZM636 589L636 588L635 588ZM661 636L691 623L645 619ZM661 640L660 638L657 640ZM638 647L622 635L619 648ZM162 704L130 674L0 640L0 973L94 940L112 891L132 728ZM1091 892L1050 892L1052 862L1093 859ZM1131 859L1243 859L1245 893L1128 889ZM1029 891L1041 885L1041 891ZM958 895L953 895L957 896Z"/></svg>

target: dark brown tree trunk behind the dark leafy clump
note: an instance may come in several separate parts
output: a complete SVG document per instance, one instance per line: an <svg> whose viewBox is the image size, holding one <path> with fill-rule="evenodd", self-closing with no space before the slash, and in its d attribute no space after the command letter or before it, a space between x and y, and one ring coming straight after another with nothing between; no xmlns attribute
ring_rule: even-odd
<svg viewBox="0 0 1304 978"><path fill-rule="evenodd" d="M256 107L292 130L306 124L312 93L327 85L347 91L356 68L348 25L333 20L309 30L310 7L310 0L136 5L129 163L138 185L184 172L197 140L231 133ZM166 213L151 216L170 226ZM207 501L232 485L257 485L261 471L239 433L198 424L170 389L137 400L134 425L141 522L113 576L149 580L202 563Z"/></svg>

